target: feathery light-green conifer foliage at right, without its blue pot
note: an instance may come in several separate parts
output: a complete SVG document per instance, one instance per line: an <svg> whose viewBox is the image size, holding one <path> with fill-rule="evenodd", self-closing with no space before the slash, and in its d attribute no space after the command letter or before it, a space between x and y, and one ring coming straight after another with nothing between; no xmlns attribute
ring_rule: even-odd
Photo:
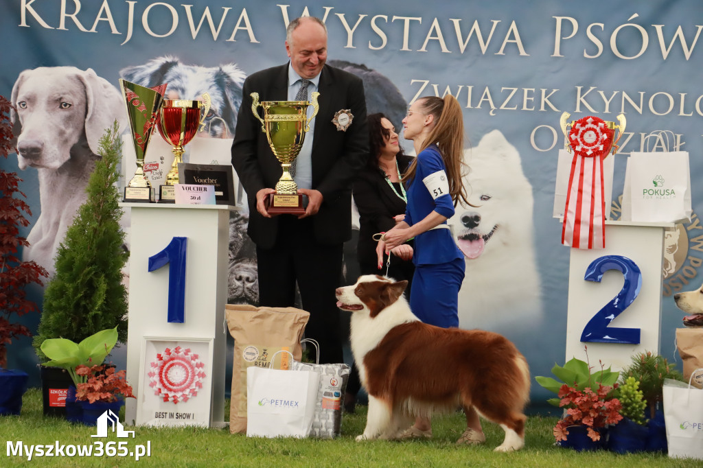
<svg viewBox="0 0 703 468"><path fill-rule="evenodd" d="M639 388L647 408L650 408L650 417L654 417L657 403L664 398L664 379L685 382L673 364L651 351L633 355L632 364L622 370L621 376L622 379L633 377L640 382Z"/></svg>

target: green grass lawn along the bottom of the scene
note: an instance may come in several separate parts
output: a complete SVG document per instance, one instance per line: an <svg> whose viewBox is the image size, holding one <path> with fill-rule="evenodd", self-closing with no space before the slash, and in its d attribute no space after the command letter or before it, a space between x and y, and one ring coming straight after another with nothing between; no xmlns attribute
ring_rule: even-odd
<svg viewBox="0 0 703 468"><path fill-rule="evenodd" d="M227 405L228 408L228 405ZM7 441L25 445L83 445L127 440L127 448L151 445L151 456L138 464L148 467L700 467L696 460L671 460L666 454L645 453L617 455L605 451L576 453L554 446L552 427L555 417L531 416L527 421L526 446L516 453L494 453L503 441L503 430L484 421L484 446L456 447L454 442L463 431L460 413L436 417L432 422L434 437L429 441L366 441L356 442L366 424L366 408L358 407L355 415L345 415L342 436L335 440L293 438L247 438L229 434L226 429L193 427L161 428L130 427L135 438L108 436L91 438L94 427L70 424L65 420L44 417L41 412L41 390L25 394L22 415L0 417L0 434L4 439L0 467L122 467L133 466L131 457L26 457L7 455ZM122 416L124 410L122 410ZM228 419L228 415L226 415Z"/></svg>

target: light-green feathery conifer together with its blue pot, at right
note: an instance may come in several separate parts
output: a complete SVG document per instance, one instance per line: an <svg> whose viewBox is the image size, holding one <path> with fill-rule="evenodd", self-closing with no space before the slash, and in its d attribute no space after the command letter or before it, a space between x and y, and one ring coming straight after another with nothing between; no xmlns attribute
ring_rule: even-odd
<svg viewBox="0 0 703 468"><path fill-rule="evenodd" d="M639 384L643 400L647 405L647 446L650 451L667 450L666 426L664 425L664 411L659 408L659 402L664 398L664 379L673 379L685 382L681 372L678 372L673 363L669 363L664 356L651 351L637 353L632 356L632 363L621 372L622 378L633 377Z"/></svg>

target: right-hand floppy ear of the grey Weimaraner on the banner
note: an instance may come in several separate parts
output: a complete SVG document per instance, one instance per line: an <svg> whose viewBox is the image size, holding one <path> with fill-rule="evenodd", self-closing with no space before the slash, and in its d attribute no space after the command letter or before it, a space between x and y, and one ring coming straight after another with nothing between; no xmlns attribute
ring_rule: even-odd
<svg viewBox="0 0 703 468"><path fill-rule="evenodd" d="M86 138L90 150L98 154L98 141L115 119L120 129L127 126L122 94L108 80L98 77L92 68L84 72L79 70L77 75L86 89Z"/></svg>

